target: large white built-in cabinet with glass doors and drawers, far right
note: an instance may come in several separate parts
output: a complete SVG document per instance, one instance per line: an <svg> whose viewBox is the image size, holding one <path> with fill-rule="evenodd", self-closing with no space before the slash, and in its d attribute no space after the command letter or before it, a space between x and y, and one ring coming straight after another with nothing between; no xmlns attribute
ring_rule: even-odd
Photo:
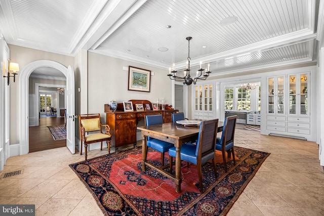
<svg viewBox="0 0 324 216"><path fill-rule="evenodd" d="M268 76L266 131L311 138L310 72Z"/></svg>

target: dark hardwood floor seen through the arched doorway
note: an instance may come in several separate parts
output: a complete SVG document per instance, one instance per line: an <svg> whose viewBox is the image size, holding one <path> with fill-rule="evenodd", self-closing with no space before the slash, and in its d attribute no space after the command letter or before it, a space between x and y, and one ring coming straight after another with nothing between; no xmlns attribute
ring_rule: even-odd
<svg viewBox="0 0 324 216"><path fill-rule="evenodd" d="M29 127L29 153L66 146L66 140L54 140L47 126L64 124L64 118L41 117L39 126Z"/></svg>

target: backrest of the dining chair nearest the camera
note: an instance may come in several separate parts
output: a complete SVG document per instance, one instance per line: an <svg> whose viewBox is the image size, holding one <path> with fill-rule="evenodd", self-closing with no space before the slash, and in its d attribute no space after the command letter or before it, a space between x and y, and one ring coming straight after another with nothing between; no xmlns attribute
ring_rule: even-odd
<svg viewBox="0 0 324 216"><path fill-rule="evenodd" d="M201 121L198 133L198 142L196 143L197 147L195 155L197 157L203 158L204 155L209 154L210 152L215 152L217 127L218 119ZM206 161L202 161L202 163L204 162Z"/></svg>

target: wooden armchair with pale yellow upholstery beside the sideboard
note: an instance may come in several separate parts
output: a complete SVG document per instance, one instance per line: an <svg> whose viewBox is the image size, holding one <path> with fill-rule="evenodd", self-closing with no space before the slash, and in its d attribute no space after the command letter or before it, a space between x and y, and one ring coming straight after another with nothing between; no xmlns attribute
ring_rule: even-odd
<svg viewBox="0 0 324 216"><path fill-rule="evenodd" d="M108 154L110 154L110 127L108 124L101 124L100 113L98 114L79 114L80 126L80 155L82 155L82 143L85 145L85 157L87 160L88 145L91 143L106 141L108 145ZM102 128L105 127L105 134L102 133ZM89 134L89 132L91 134ZM97 132L97 133L93 133Z"/></svg>

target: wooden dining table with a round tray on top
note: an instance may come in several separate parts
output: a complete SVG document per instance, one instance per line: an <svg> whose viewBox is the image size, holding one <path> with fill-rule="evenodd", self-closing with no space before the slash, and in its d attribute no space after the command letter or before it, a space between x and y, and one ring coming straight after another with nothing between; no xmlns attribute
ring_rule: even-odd
<svg viewBox="0 0 324 216"><path fill-rule="evenodd" d="M217 132L221 132L223 129L224 122L218 122ZM137 129L141 131L142 135L142 155L143 155L143 171L146 171L146 166L149 166L156 171L160 172L162 175L172 179L176 184L176 192L181 192L181 157L180 150L181 146L184 143L189 141L195 141L198 138L199 133L199 125L194 126L184 126L182 124L174 123L163 123L163 124L155 124L148 126L138 126ZM169 166L169 164L162 165L157 167L146 160L147 156L147 145L146 145L146 137L152 137L158 140L163 140L168 143L174 144L176 148L176 163L175 163L175 175L166 171L165 168ZM172 161L170 161L172 162Z"/></svg>

